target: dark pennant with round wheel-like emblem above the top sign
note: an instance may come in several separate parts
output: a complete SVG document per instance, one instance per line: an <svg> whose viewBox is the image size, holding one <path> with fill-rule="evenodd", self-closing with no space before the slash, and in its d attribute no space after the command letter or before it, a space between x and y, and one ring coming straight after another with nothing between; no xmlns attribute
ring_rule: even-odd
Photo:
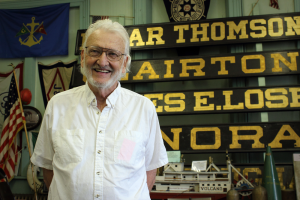
<svg viewBox="0 0 300 200"><path fill-rule="evenodd" d="M170 22L206 19L210 0L164 0Z"/></svg>

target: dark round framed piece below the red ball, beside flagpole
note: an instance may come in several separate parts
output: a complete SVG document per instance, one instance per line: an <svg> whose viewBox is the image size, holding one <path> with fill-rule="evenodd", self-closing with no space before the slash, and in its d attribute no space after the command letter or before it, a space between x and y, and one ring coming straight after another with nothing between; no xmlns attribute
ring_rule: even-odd
<svg viewBox="0 0 300 200"><path fill-rule="evenodd" d="M41 124L43 117L38 109L32 106L24 106L23 110L28 131L35 129Z"/></svg>

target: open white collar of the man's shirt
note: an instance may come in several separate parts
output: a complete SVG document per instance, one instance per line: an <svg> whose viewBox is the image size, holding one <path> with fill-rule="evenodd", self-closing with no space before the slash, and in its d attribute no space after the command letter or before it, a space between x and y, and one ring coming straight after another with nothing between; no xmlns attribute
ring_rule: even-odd
<svg viewBox="0 0 300 200"><path fill-rule="evenodd" d="M86 81L84 87L85 87L85 90L86 90L87 105L88 106L97 106L96 96L92 92L92 90L90 89L87 81ZM106 104L107 104L108 107L114 108L114 106L116 104L116 101L118 99L118 96L120 94L120 91L121 91L121 84L120 84L120 82L118 82L117 88L106 99Z"/></svg>

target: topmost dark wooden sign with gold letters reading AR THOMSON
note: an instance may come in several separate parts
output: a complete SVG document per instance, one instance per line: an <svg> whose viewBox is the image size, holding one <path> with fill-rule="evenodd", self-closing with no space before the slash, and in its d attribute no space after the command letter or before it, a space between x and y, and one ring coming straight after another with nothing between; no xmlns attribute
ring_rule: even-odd
<svg viewBox="0 0 300 200"><path fill-rule="evenodd" d="M125 26L131 50L300 39L300 13ZM79 30L75 55L85 30ZM80 42L81 41L81 42Z"/></svg>

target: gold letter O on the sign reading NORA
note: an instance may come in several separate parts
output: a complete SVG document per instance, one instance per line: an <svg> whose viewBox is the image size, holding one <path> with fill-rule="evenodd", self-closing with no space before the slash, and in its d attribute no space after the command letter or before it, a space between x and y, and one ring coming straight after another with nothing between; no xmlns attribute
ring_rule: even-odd
<svg viewBox="0 0 300 200"><path fill-rule="evenodd" d="M212 131L214 132L215 143L212 145L198 145L197 144L197 132ZM191 130L191 148L194 150L199 149L219 149L221 146L221 131L218 127L204 127L204 128L193 128Z"/></svg>

